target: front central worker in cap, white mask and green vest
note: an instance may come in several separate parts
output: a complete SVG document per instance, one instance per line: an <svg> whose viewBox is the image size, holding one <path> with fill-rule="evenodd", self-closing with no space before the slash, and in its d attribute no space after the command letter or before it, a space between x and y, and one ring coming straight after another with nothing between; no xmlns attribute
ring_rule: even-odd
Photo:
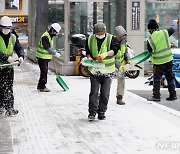
<svg viewBox="0 0 180 154"><path fill-rule="evenodd" d="M89 94L89 115L90 121L106 118L105 112L109 101L112 73L115 72L115 57L118 45L115 37L106 33L106 25L98 23L94 26L94 34L90 35L86 43L86 55L92 61L99 61L105 67L98 69L98 72L90 76L91 90ZM91 67L89 68L91 71Z"/></svg>

